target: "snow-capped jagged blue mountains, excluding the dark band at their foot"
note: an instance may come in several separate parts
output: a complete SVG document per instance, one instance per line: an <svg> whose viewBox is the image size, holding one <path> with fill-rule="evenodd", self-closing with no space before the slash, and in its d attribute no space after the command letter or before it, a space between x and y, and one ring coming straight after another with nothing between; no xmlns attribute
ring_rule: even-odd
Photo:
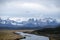
<svg viewBox="0 0 60 40"><path fill-rule="evenodd" d="M10 18L7 18L6 20L3 20L0 18L0 25L11 25L11 26L19 26L19 27L55 27L58 25L58 22L56 19L53 18L44 18L44 19L34 19L30 18L27 21L14 21ZM48 28L48 27L47 27Z"/></svg>

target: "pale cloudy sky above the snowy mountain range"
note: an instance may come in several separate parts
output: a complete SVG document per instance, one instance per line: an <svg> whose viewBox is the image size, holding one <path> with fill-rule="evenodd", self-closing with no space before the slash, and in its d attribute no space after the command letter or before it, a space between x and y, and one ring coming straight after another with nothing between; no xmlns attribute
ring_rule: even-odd
<svg viewBox="0 0 60 40"><path fill-rule="evenodd" d="M0 0L0 16L60 19L60 0Z"/></svg>

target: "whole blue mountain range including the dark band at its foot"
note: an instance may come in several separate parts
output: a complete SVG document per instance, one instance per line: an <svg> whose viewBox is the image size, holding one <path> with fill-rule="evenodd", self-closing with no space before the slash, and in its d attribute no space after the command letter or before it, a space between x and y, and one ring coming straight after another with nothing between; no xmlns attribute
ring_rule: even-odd
<svg viewBox="0 0 60 40"><path fill-rule="evenodd" d="M11 20L10 18L0 18L0 29L41 29L41 28L55 28L60 23L53 18L34 19L29 18L27 21Z"/></svg>

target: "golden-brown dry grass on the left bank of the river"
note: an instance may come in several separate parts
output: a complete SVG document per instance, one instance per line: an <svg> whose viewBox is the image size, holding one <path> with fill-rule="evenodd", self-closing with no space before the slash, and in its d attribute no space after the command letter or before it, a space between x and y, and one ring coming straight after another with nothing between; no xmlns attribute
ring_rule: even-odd
<svg viewBox="0 0 60 40"><path fill-rule="evenodd" d="M20 35L16 35L13 32L30 32L32 30L0 30L0 40L15 40L22 38Z"/></svg>

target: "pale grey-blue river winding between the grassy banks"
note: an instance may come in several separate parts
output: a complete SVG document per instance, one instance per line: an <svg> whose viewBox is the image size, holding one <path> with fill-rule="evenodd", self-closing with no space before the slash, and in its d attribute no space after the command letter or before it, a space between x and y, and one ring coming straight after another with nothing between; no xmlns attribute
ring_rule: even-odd
<svg viewBox="0 0 60 40"><path fill-rule="evenodd" d="M49 38L45 36L38 36L38 35L28 34L28 33L23 33L23 32L17 32L17 33L19 35L22 35L23 37L26 37L20 40L49 40Z"/></svg>

